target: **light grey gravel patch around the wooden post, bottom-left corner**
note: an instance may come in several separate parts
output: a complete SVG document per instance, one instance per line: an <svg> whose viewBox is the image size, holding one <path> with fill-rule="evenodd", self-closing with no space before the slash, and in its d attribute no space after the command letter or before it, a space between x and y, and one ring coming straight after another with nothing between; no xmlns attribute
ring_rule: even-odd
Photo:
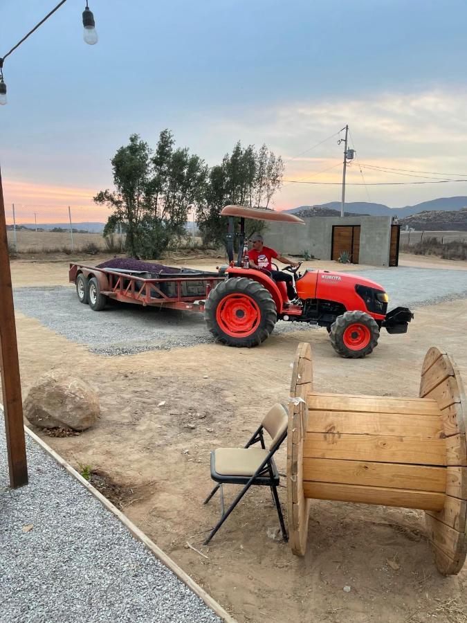
<svg viewBox="0 0 467 623"><path fill-rule="evenodd" d="M30 482L10 489L0 420L2 623L220 622L27 435Z"/></svg>

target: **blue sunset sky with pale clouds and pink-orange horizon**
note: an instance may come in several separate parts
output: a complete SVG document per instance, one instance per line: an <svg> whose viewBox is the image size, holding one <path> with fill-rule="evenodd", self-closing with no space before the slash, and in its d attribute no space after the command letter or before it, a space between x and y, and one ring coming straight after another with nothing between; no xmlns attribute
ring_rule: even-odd
<svg viewBox="0 0 467 623"><path fill-rule="evenodd" d="M0 0L0 56L56 3ZM165 127L209 165L266 143L286 162L275 209L340 201L346 124L347 201L467 195L467 182L373 185L467 179L464 0L91 0L95 46L84 4L67 0L5 61L8 222L13 203L18 222L64 222L67 206L104 222L92 197L112 188L111 157Z"/></svg>

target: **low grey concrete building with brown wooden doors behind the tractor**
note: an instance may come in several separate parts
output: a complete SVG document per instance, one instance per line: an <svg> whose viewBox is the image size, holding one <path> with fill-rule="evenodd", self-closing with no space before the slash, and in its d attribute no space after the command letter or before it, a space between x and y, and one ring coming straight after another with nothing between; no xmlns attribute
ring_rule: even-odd
<svg viewBox="0 0 467 623"><path fill-rule="evenodd" d="M266 246L286 255L308 251L318 260L337 260L346 251L354 264L398 264L400 226L392 224L392 217L310 217L304 222L266 222Z"/></svg>

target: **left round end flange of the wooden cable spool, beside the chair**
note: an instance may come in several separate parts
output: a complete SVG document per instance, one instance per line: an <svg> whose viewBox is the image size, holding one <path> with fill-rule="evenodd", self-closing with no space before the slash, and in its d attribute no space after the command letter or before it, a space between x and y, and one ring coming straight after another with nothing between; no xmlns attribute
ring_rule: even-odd
<svg viewBox="0 0 467 623"><path fill-rule="evenodd" d="M300 343L292 370L291 398L302 398L289 403L287 432L287 514L289 518L289 544L294 554L303 556L308 537L310 500L303 491L303 440L306 434L306 395L313 390L311 347Z"/></svg>

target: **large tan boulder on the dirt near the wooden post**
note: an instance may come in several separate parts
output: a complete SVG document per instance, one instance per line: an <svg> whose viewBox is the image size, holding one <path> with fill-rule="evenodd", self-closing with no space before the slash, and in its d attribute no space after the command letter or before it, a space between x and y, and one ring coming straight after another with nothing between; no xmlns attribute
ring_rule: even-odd
<svg viewBox="0 0 467 623"><path fill-rule="evenodd" d="M98 395L89 383L63 370L53 370L30 388L23 410L35 426L84 431L98 419L100 406Z"/></svg>

